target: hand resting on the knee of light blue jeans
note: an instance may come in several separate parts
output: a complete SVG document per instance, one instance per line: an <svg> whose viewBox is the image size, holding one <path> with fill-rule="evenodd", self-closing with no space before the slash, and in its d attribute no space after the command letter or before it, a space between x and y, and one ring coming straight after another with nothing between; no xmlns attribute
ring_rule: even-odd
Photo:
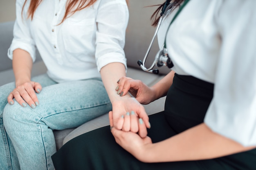
<svg viewBox="0 0 256 170"><path fill-rule="evenodd" d="M36 93L40 93L41 90L42 86L40 83L34 81L22 83L17 85L16 88L9 94L7 97L8 103L13 105L13 98L15 98L22 107L26 107L28 104L34 109L37 105L39 105Z"/></svg>

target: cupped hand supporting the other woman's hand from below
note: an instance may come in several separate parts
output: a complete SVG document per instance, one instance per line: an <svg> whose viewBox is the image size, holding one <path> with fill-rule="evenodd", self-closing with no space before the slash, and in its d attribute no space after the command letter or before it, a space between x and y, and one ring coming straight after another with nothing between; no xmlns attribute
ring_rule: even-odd
<svg viewBox="0 0 256 170"><path fill-rule="evenodd" d="M110 120L112 114L109 114ZM143 126L144 122L141 122L139 126ZM122 148L124 148L126 151L131 153L134 157L139 159L140 161L145 158L145 153L148 150L150 146L152 146L152 141L150 137L145 136L141 137L137 133L132 132L125 132L116 129L113 127L113 122L110 121L110 129L112 135L115 137L115 141L117 144L119 144Z"/></svg>

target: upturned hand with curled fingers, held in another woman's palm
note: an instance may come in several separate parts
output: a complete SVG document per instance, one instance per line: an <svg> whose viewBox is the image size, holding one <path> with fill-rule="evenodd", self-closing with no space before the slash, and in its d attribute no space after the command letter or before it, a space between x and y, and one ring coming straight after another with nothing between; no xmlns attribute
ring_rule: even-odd
<svg viewBox="0 0 256 170"><path fill-rule="evenodd" d="M144 107L132 97L124 96L121 100L113 102L109 116L112 126L116 129L138 133L140 137L146 137L147 128L150 128ZM141 122L145 123L140 124Z"/></svg>

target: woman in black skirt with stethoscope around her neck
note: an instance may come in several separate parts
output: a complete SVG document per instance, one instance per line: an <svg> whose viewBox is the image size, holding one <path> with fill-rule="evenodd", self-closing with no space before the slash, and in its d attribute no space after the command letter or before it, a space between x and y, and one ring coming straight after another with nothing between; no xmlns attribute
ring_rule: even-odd
<svg viewBox="0 0 256 170"><path fill-rule="evenodd" d="M110 111L114 137L105 128L71 140L53 156L56 167L83 161L79 165L89 169L100 169L98 164L111 170L256 169L256 1L172 2L158 33L172 71L152 87L122 77L118 88L141 104L167 95L165 110L150 115L151 128L138 134L136 121L140 129L147 121L131 109L120 118L126 126L120 129ZM102 147L96 142L89 148L88 137L102 137ZM70 157L77 161L67 161Z"/></svg>

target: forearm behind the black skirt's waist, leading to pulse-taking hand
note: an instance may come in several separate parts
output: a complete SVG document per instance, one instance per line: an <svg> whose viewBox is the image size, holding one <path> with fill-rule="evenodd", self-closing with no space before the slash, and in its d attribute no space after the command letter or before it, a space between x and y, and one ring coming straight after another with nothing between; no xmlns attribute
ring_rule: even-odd
<svg viewBox="0 0 256 170"><path fill-rule="evenodd" d="M166 76L164 76L164 78L162 78L162 80L151 87L155 91L156 99L166 96L168 89L173 84L174 74L174 71L169 72Z"/></svg>

